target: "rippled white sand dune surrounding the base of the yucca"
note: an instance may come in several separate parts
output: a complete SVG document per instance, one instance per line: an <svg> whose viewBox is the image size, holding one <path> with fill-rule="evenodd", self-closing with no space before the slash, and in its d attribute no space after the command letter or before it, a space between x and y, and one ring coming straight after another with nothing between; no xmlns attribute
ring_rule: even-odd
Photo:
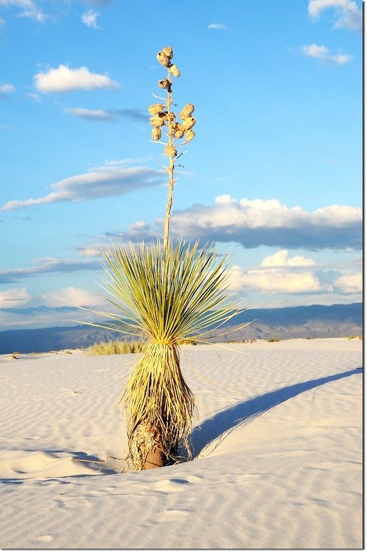
<svg viewBox="0 0 367 552"><path fill-rule="evenodd" d="M231 346L183 349L196 459L132 473L75 459L124 455L135 355L0 356L0 546L360 548L361 342Z"/></svg>

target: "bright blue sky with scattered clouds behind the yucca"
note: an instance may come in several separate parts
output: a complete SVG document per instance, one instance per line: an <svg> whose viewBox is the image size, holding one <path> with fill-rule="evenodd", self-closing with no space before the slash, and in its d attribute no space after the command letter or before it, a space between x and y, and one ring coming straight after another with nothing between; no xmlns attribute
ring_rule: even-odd
<svg viewBox="0 0 367 552"><path fill-rule="evenodd" d="M361 8L0 0L1 328L101 308L101 250L162 234L147 106L168 45L197 121L172 237L230 250L250 307L360 301Z"/></svg>

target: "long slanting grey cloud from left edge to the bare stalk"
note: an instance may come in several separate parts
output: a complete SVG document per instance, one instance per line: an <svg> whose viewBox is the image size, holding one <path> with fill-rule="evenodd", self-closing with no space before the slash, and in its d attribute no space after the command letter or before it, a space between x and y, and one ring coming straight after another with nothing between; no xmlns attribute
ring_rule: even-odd
<svg viewBox="0 0 367 552"><path fill-rule="evenodd" d="M147 167L126 168L107 164L82 175L65 178L52 184L53 191L43 197L8 201L1 207L1 210L21 209L58 201L89 201L101 197L124 195L134 190L162 184L165 174L165 170L154 170Z"/></svg>

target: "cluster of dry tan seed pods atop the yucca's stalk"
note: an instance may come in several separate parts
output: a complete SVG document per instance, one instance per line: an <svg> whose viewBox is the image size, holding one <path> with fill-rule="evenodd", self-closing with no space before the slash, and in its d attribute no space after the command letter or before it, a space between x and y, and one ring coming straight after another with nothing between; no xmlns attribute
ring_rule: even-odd
<svg viewBox="0 0 367 552"><path fill-rule="evenodd" d="M185 140L182 144L186 144L195 137L195 132L193 132L192 127L196 123L196 119L192 117L193 110L195 109L192 103L187 103L184 108L180 111L178 117L180 117L182 122L176 121L176 114L171 111L171 75L174 77L180 77L180 70L178 67L171 62L171 59L174 55L171 46L165 46L160 52L158 52L157 59L162 66L167 67L168 75L167 78L158 81L158 86L167 90L167 100L166 105L162 103L154 103L152 106L149 106L148 111L151 115L150 123L153 126L151 130L151 137L154 140L160 140L162 136L162 127L167 126L168 135L169 135L169 144L165 146L165 154L169 157L176 157L177 150L173 145L174 139Z"/></svg>

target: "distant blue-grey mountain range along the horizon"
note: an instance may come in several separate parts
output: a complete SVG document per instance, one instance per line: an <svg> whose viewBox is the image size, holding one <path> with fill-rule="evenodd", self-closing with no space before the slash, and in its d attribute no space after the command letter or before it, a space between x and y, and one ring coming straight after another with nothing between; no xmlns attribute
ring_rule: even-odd
<svg viewBox="0 0 367 552"><path fill-rule="evenodd" d="M361 303L331 306L254 308L233 318L231 326L213 331L211 342L244 339L292 339L296 337L349 337L362 333ZM241 328L243 324L249 326ZM240 328L240 329L238 329ZM227 335L215 337L226 331ZM43 353L87 348L96 342L118 339L121 334L92 326L65 326L36 330L0 331L0 355Z"/></svg>

